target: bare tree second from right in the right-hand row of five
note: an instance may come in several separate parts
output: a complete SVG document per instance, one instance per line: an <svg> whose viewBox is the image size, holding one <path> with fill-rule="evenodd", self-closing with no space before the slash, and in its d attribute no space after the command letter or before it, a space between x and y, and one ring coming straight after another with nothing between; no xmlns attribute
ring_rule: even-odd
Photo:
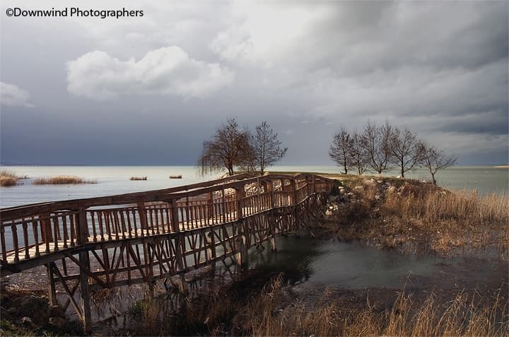
<svg viewBox="0 0 509 337"><path fill-rule="evenodd" d="M421 161L421 147L419 147L417 134L406 128L402 130L399 127L393 127L389 149L392 162L401 170L402 178L406 171L410 171Z"/></svg>

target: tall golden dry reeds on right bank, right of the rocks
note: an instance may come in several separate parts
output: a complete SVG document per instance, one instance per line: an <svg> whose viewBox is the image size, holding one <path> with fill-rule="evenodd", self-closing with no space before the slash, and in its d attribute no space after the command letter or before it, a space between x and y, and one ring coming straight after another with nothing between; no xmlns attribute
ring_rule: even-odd
<svg viewBox="0 0 509 337"><path fill-rule="evenodd" d="M386 222L402 232L410 228L416 234L426 234L434 251L462 246L486 248L496 242L507 257L508 195L479 197L475 191L444 190L420 196L387 193L381 212Z"/></svg>

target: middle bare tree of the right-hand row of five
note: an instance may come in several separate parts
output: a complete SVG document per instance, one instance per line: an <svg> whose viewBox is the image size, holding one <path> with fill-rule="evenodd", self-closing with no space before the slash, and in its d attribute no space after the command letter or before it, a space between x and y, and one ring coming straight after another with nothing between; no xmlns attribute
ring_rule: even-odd
<svg viewBox="0 0 509 337"><path fill-rule="evenodd" d="M366 159L368 159L368 165L371 169L378 172L378 174L389 169L391 135L392 126L388 122L380 127L373 122L368 122L368 125L366 125L364 129L362 144Z"/></svg>

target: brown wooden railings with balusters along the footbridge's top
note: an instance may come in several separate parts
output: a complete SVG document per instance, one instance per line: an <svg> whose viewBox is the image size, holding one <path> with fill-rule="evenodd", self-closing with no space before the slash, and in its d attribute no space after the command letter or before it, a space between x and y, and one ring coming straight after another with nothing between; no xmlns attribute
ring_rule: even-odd
<svg viewBox="0 0 509 337"><path fill-rule="evenodd" d="M300 174L231 176L176 188L42 202L0 210L2 265L95 242L157 236L235 222L327 192L332 180Z"/></svg>

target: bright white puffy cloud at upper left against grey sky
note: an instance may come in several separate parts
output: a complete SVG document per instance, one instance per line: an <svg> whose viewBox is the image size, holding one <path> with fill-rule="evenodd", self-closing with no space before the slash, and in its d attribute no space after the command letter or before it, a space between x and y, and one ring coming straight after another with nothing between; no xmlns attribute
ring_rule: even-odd
<svg viewBox="0 0 509 337"><path fill-rule="evenodd" d="M69 93L94 100L130 94L203 98L233 78L229 69L192 59L177 46L152 50L139 61L95 51L67 63Z"/></svg>

